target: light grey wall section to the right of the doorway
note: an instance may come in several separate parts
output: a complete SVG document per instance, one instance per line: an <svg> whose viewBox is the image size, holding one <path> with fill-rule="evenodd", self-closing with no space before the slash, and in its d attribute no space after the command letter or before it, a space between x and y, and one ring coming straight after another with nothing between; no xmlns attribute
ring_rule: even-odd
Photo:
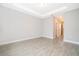
<svg viewBox="0 0 79 59"><path fill-rule="evenodd" d="M79 42L79 9L63 14L64 40Z"/></svg>

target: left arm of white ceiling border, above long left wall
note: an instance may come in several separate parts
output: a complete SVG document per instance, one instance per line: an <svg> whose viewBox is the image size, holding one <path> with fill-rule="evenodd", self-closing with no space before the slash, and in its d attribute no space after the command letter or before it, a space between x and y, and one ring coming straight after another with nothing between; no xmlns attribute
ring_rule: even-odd
<svg viewBox="0 0 79 59"><path fill-rule="evenodd" d="M29 15L32 15L32 16L36 16L36 17L39 17L39 18L42 18L42 15L35 12L35 11L32 11L31 9L29 8L23 8L22 6L19 6L19 5L16 5L16 4L1 4L2 6L4 7L7 7L7 8L11 8L11 9L14 9L14 10L17 10L17 11L20 11L20 12L23 12L23 13L26 13L26 14L29 14Z"/></svg>

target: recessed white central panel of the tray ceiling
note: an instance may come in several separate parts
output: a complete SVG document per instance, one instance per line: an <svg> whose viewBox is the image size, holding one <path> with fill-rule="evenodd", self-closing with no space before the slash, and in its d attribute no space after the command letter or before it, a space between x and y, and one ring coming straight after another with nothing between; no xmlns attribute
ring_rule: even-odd
<svg viewBox="0 0 79 59"><path fill-rule="evenodd" d="M63 4L42 4L42 3L33 3L33 4L20 4L20 6L23 6L24 8L29 8L41 15L49 13L51 11L54 11L60 7L63 7Z"/></svg>

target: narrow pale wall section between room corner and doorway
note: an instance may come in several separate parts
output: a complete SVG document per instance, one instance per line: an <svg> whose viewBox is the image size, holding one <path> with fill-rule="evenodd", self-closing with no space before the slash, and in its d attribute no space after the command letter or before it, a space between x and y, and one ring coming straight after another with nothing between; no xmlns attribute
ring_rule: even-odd
<svg viewBox="0 0 79 59"><path fill-rule="evenodd" d="M44 19L43 36L53 39L53 17Z"/></svg>

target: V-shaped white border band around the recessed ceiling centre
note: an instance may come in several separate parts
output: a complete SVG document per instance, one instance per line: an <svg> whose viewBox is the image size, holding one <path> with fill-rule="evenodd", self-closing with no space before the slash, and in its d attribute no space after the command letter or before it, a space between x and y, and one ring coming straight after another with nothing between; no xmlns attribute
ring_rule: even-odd
<svg viewBox="0 0 79 59"><path fill-rule="evenodd" d="M5 7L8 7L8 8L18 10L20 12L24 12L24 13L27 13L27 14L30 14L30 15L34 15L34 16L39 17L39 18L45 18L45 17L47 18L47 17L51 16L52 14L54 14L54 15L57 14L58 15L58 12L62 12L62 11L64 12L64 10L65 10L65 12L67 12L67 11L79 8L77 6L75 6L74 8L72 8L71 6L70 6L71 8L69 6L63 6L63 7L60 7L58 9L56 9L56 10L50 11L46 14L40 14L36 11L31 10L30 8L25 8L25 7L21 6L20 4L18 5L16 3L15 4L14 3L13 4L8 4L8 3L5 4L4 3L4 4L1 4L1 5L5 6Z"/></svg>

